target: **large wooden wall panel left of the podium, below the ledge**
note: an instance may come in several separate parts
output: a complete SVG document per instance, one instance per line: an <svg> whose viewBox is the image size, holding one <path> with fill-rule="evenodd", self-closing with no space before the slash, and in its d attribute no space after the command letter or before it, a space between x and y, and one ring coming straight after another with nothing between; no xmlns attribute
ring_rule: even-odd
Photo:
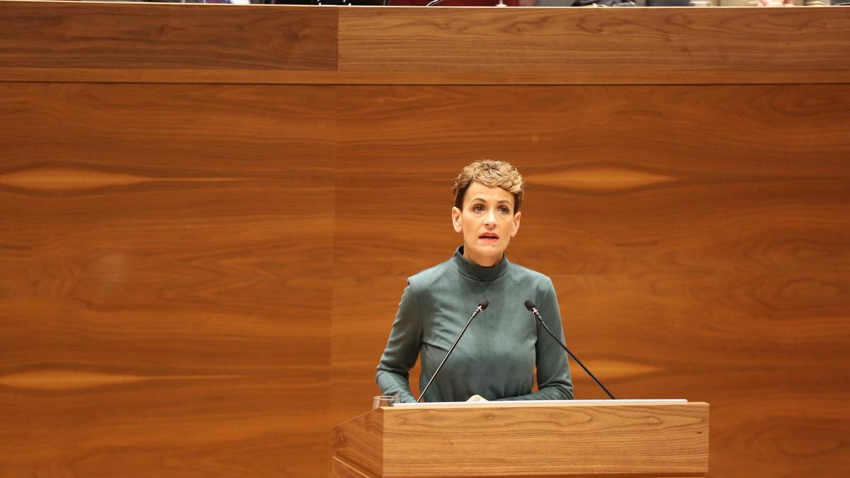
<svg viewBox="0 0 850 478"><path fill-rule="evenodd" d="M326 472L329 124L325 87L0 83L0 475Z"/></svg>

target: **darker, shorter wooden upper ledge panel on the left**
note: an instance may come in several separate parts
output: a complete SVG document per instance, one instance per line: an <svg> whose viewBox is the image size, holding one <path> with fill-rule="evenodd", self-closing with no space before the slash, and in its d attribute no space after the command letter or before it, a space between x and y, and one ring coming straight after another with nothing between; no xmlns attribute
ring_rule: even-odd
<svg viewBox="0 0 850 478"><path fill-rule="evenodd" d="M0 68L336 69L335 9L264 7L4 2Z"/></svg>

